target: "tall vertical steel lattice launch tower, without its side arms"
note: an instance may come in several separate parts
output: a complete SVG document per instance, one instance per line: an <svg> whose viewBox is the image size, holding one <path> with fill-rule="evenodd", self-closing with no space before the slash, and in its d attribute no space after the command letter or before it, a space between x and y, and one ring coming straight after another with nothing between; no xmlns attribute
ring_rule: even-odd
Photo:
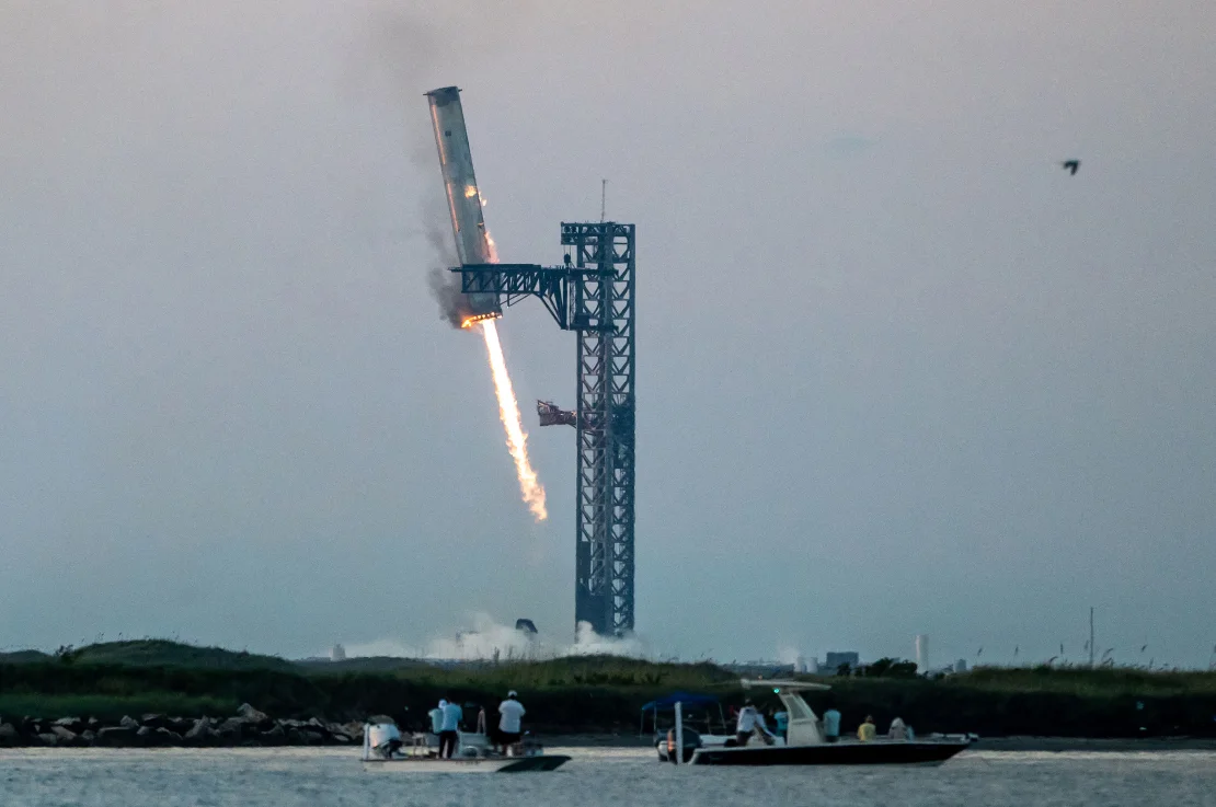
<svg viewBox="0 0 1216 807"><path fill-rule="evenodd" d="M574 619L607 636L634 630L634 235L631 224L562 224L576 278Z"/></svg>

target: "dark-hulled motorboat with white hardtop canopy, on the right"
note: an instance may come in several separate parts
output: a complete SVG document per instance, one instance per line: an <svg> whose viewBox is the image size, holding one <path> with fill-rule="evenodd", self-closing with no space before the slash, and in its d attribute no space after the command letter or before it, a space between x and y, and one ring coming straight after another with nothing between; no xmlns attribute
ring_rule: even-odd
<svg viewBox="0 0 1216 807"><path fill-rule="evenodd" d="M841 738L828 743L820 729L820 718L803 699L807 690L831 689L827 684L804 681L748 681L744 687L771 687L789 715L784 738L769 738L758 745L708 745L692 733L686 737L681 709L676 709L676 726L668 738L666 747L659 745L659 756L672 762L689 764L928 764L938 766L968 747L972 738L948 737L924 740L874 739L861 741ZM675 754L683 749L683 754Z"/></svg>

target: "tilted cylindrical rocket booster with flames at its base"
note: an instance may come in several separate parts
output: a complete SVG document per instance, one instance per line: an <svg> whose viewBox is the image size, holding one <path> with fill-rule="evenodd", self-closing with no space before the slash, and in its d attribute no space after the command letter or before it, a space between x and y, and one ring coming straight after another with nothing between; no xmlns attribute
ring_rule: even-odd
<svg viewBox="0 0 1216 807"><path fill-rule="evenodd" d="M482 215L482 194L473 175L473 153L465 129L465 111L460 88L445 86L427 94L430 123L439 147L439 168L447 192L447 208L461 264L491 264L496 260ZM474 320L502 316L497 294L466 294L469 316Z"/></svg>

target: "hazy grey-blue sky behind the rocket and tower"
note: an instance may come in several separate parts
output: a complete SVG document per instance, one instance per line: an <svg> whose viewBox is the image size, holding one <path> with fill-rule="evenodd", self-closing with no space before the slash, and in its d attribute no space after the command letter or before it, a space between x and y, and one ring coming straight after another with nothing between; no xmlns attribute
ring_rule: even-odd
<svg viewBox="0 0 1216 807"><path fill-rule="evenodd" d="M601 177L637 224L651 648L1079 659L1096 605L1207 666L1211 2L501 5L0 0L0 647L573 632L573 338L501 329L537 526L426 290L457 84L503 259Z"/></svg>

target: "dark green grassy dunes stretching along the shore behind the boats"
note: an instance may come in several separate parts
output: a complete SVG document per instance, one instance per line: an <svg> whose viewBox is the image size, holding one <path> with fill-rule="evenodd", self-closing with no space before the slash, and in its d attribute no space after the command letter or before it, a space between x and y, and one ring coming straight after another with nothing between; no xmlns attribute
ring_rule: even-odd
<svg viewBox="0 0 1216 807"><path fill-rule="evenodd" d="M849 730L871 713L896 715L919 732L1058 737L1216 735L1216 673L1130 668L981 667L941 679L908 677L899 665L831 677L828 693ZM878 675L882 673L882 675ZM171 642L123 642L61 649L54 658L0 659L0 715L40 717L162 712L230 715L249 702L275 717L359 719L388 713L418 726L439 698L492 707L518 689L534 730L637 730L643 702L674 690L742 702L734 675L710 664L654 664L610 656L440 667L358 659L297 664L272 656ZM771 693L753 690L761 707Z"/></svg>

